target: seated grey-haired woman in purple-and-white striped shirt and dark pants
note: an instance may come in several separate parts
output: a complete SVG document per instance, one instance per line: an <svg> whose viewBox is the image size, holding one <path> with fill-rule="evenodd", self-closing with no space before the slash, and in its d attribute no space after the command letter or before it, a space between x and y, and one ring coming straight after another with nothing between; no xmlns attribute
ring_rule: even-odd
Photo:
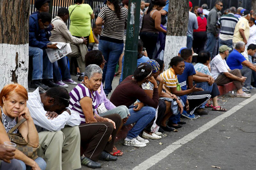
<svg viewBox="0 0 256 170"><path fill-rule="evenodd" d="M96 162L99 159L117 159L109 153L113 152L116 127L120 127L121 117L118 114L101 117L96 112L96 91L101 85L101 68L96 64L88 65L84 75L84 80L69 93L69 107L81 117L79 129L85 156L81 164L90 168L100 168L100 163Z"/></svg>

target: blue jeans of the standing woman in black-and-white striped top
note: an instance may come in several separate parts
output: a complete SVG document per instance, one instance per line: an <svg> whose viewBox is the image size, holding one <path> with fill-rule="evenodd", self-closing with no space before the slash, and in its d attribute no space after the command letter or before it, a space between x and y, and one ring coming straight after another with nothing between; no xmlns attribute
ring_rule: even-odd
<svg viewBox="0 0 256 170"><path fill-rule="evenodd" d="M99 50L102 52L105 63L102 75L102 83L105 81L104 92L108 95L112 90L112 81L115 75L116 64L120 55L123 52L124 43L119 44L115 42L100 40L99 41Z"/></svg>

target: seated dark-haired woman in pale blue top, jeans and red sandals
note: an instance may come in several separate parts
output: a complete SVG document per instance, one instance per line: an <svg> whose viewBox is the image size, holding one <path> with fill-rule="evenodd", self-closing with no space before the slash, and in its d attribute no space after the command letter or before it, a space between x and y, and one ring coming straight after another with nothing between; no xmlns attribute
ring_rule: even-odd
<svg viewBox="0 0 256 170"><path fill-rule="evenodd" d="M198 63L194 66L195 70L211 76L210 70L207 67L209 65L210 61L211 61L210 52L201 51L197 56ZM220 95L220 92L219 92L219 89L218 89L218 86L216 83L209 85L208 82L196 82L194 84L196 84L196 87L198 87L198 88L202 88L206 91L210 91L211 95L212 95L211 98L212 98L213 106L212 106L211 102L208 100L208 102L205 102L204 104L202 104L200 106L200 108L212 107L212 110L214 110L214 111L222 111L222 112L227 111L227 109L222 108L218 105L218 95Z"/></svg>

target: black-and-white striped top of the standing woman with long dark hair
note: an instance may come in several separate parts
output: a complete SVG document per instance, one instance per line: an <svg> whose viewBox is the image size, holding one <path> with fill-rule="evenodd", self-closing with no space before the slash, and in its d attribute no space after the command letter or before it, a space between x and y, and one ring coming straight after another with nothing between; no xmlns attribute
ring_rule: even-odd
<svg viewBox="0 0 256 170"><path fill-rule="evenodd" d="M127 22L127 16L128 10L124 7L121 7L120 18L118 18L115 11L112 11L108 6L104 6L98 15L104 20L100 40L124 43L124 27Z"/></svg>

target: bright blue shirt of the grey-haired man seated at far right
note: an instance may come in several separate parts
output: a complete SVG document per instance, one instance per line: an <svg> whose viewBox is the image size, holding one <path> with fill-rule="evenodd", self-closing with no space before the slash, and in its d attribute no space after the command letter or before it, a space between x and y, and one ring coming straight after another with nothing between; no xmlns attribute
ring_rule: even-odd
<svg viewBox="0 0 256 170"><path fill-rule="evenodd" d="M242 62L245 61L244 55L239 53L236 49L234 49L229 55L227 59L228 67L231 70L234 69L242 69Z"/></svg>

